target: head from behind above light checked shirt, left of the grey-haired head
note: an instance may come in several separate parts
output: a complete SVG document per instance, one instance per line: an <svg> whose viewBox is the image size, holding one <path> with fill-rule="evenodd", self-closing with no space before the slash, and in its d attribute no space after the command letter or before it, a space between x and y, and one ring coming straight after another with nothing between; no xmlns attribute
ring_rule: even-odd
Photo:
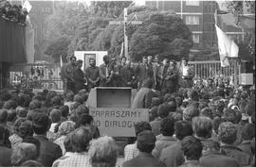
<svg viewBox="0 0 256 167"><path fill-rule="evenodd" d="M74 152L87 152L89 142L92 140L92 134L88 128L77 128L71 136L72 149Z"/></svg>

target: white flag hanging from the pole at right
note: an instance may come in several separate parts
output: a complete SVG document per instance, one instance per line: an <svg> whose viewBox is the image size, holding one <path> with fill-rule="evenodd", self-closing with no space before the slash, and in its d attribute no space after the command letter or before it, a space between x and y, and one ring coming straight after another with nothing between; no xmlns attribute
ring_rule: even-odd
<svg viewBox="0 0 256 167"><path fill-rule="evenodd" d="M235 42L229 39L229 37L219 28L217 25L216 33L218 38L218 48L221 60L221 67L229 66L229 58L238 58L239 48Z"/></svg>

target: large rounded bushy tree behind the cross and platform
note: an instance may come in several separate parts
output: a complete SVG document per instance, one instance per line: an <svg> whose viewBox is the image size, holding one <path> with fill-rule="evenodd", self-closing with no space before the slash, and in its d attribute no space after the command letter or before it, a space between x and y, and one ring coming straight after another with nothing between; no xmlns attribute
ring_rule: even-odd
<svg viewBox="0 0 256 167"><path fill-rule="evenodd" d="M122 20L122 15L117 20ZM129 55L140 60L147 55L161 58L188 57L192 48L192 33L179 17L172 12L159 12L155 8L128 8L128 20L142 21L142 25L128 25ZM110 35L112 34L112 35ZM101 31L94 48L104 48L114 56L119 56L123 42L123 25L107 25ZM110 45L109 45L110 44ZM102 47L104 46L104 47Z"/></svg>

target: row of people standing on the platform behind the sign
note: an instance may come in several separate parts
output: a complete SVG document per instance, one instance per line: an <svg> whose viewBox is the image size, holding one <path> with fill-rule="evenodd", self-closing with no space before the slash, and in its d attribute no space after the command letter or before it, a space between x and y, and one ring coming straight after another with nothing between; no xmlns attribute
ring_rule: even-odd
<svg viewBox="0 0 256 167"><path fill-rule="evenodd" d="M94 87L131 87L139 90L143 81L150 79L152 87L159 92L172 93L179 87L191 88L194 76L188 59L183 58L180 67L175 60L158 56L143 57L141 63L134 63L125 57L120 61L109 56L103 57L104 63L96 66L94 58L89 59L89 67L82 71L82 60L71 57L70 62L62 67L62 80L65 90L88 92Z"/></svg>

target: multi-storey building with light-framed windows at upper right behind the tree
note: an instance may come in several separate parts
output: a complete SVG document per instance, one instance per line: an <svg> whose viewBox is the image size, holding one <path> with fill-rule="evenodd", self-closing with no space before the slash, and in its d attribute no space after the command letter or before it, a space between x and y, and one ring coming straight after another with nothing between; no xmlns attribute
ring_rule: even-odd
<svg viewBox="0 0 256 167"><path fill-rule="evenodd" d="M176 15L189 26L192 31L193 48L213 47L217 45L215 32L215 9L221 9L221 4L216 1L146 1L146 6L158 10L174 10ZM229 14L233 17L232 14ZM229 19L225 18L226 20ZM236 42L245 39L245 32L237 26L225 24L223 16L218 16L218 25ZM234 18L233 18L234 19Z"/></svg>

